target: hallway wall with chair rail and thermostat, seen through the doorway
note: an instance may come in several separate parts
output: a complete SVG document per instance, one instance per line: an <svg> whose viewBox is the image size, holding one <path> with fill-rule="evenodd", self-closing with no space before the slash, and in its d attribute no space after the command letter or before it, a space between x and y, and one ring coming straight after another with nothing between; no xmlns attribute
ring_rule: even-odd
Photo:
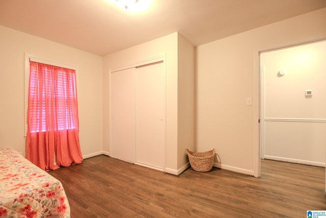
<svg viewBox="0 0 326 218"><path fill-rule="evenodd" d="M326 41L260 55L264 66L265 158L325 164L325 60ZM278 74L280 69L286 74ZM305 96L305 90L310 89L313 95ZM305 119L311 120L307 123Z"/></svg>

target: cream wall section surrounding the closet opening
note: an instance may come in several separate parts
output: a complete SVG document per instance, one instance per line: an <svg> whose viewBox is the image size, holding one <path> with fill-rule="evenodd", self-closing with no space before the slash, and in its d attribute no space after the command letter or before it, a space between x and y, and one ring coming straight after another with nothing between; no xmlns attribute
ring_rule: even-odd
<svg viewBox="0 0 326 218"><path fill-rule="evenodd" d="M166 54L166 168L177 170L178 33L103 57L103 149L110 153L111 70Z"/></svg>

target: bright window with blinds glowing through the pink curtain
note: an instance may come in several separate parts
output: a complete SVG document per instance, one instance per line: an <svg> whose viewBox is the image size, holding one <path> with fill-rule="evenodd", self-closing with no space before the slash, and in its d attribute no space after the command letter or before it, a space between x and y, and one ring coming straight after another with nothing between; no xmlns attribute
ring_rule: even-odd
<svg viewBox="0 0 326 218"><path fill-rule="evenodd" d="M30 132L77 128L75 70L30 61L29 99L33 101L29 107ZM46 110L46 106L53 110Z"/></svg>

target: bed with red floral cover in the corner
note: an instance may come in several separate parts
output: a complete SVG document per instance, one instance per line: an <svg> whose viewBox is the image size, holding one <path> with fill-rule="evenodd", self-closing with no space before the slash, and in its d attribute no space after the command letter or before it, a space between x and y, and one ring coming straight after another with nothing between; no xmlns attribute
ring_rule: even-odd
<svg viewBox="0 0 326 218"><path fill-rule="evenodd" d="M0 217L70 217L59 180L13 149L0 149Z"/></svg>

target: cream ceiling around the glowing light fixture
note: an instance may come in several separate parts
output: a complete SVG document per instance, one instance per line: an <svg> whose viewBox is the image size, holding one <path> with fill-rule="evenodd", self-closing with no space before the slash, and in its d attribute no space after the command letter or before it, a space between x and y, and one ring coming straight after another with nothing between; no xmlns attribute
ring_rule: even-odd
<svg viewBox="0 0 326 218"><path fill-rule="evenodd" d="M0 0L0 25L99 56L179 32L194 46L326 7L325 0Z"/></svg>

